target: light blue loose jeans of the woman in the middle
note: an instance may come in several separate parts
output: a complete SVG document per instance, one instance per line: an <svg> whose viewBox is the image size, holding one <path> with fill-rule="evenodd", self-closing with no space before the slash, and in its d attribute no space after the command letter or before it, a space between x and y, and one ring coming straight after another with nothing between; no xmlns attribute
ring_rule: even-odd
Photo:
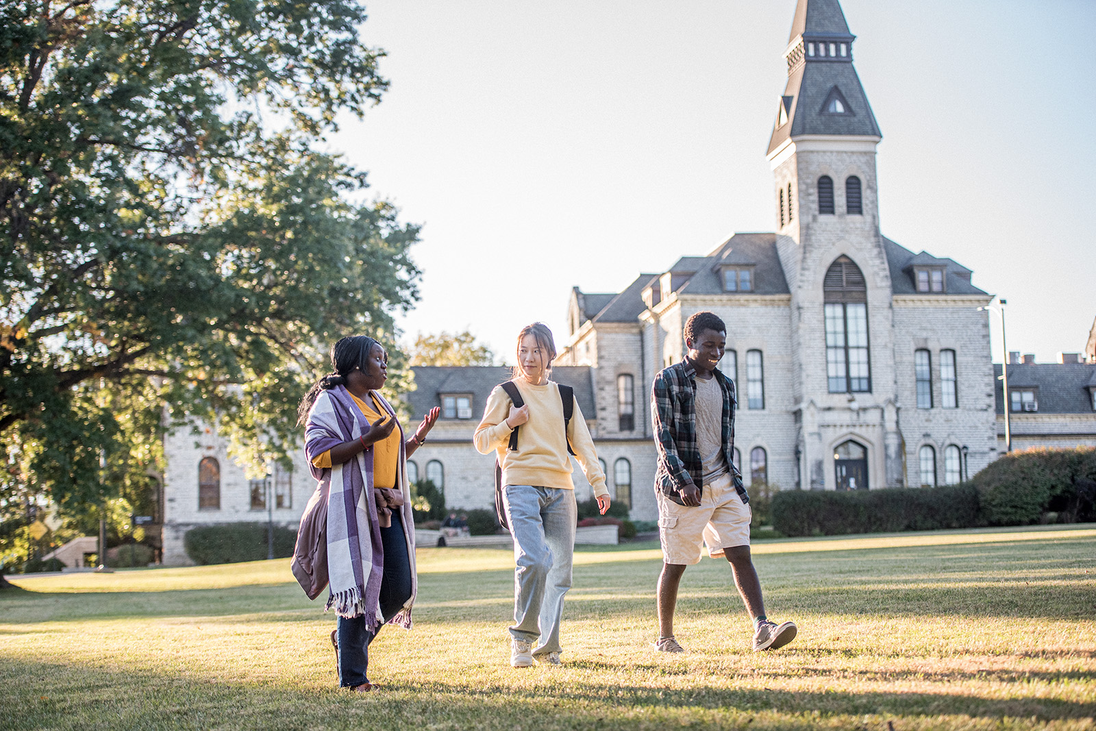
<svg viewBox="0 0 1096 731"><path fill-rule="evenodd" d="M574 490L507 484L503 502L514 537L514 626L516 640L537 643L533 654L559 652L563 596L571 587Z"/></svg>

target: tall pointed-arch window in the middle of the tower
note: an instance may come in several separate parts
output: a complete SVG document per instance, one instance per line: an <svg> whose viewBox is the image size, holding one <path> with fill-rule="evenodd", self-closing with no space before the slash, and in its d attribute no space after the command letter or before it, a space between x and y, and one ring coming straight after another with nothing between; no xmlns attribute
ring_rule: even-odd
<svg viewBox="0 0 1096 731"><path fill-rule="evenodd" d="M868 356L868 285L860 267L838 256L822 284L825 299L825 364L831 393L871 391Z"/></svg>

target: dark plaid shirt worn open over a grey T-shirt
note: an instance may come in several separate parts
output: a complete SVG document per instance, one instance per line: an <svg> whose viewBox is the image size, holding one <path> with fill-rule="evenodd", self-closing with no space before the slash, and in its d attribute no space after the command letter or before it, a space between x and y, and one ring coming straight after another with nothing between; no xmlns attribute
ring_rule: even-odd
<svg viewBox="0 0 1096 731"><path fill-rule="evenodd" d="M742 486L742 473L731 458L734 454L734 381L716 368L713 372L723 392L723 458L731 470L734 489L743 503L750 502ZM658 469L654 489L675 503L682 503L681 490L692 480L704 490L700 447L696 441L696 369L688 361L665 367L651 386L651 423L654 425L654 447Z"/></svg>

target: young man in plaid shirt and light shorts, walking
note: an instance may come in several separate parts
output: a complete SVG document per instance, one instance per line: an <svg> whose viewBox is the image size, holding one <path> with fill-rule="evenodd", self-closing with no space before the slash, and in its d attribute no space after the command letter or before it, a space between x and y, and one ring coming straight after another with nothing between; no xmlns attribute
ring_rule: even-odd
<svg viewBox="0 0 1096 731"><path fill-rule="evenodd" d="M659 537L664 564L659 575L659 639L662 652L683 652L674 639L677 586L685 567L700 561L700 544L731 564L746 612L754 621L754 650L774 650L796 637L795 623L765 616L761 582L750 558L750 498L731 458L734 453L734 382L716 366L727 345L727 325L712 312L685 323L685 359L654 377L651 412L658 471Z"/></svg>

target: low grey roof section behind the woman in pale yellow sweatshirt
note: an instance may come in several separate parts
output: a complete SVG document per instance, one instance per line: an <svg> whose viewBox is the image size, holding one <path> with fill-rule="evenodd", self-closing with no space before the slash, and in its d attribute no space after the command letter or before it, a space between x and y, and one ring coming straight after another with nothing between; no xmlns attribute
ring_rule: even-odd
<svg viewBox="0 0 1096 731"><path fill-rule="evenodd" d="M414 419L434 407L442 406L442 393L471 393L472 419L479 423L483 415L487 398L499 384L510 380L513 375L509 366L414 366L415 390L406 395ZM596 415L594 411L594 387L589 366L556 366L551 379L574 389L574 398L586 419Z"/></svg>

